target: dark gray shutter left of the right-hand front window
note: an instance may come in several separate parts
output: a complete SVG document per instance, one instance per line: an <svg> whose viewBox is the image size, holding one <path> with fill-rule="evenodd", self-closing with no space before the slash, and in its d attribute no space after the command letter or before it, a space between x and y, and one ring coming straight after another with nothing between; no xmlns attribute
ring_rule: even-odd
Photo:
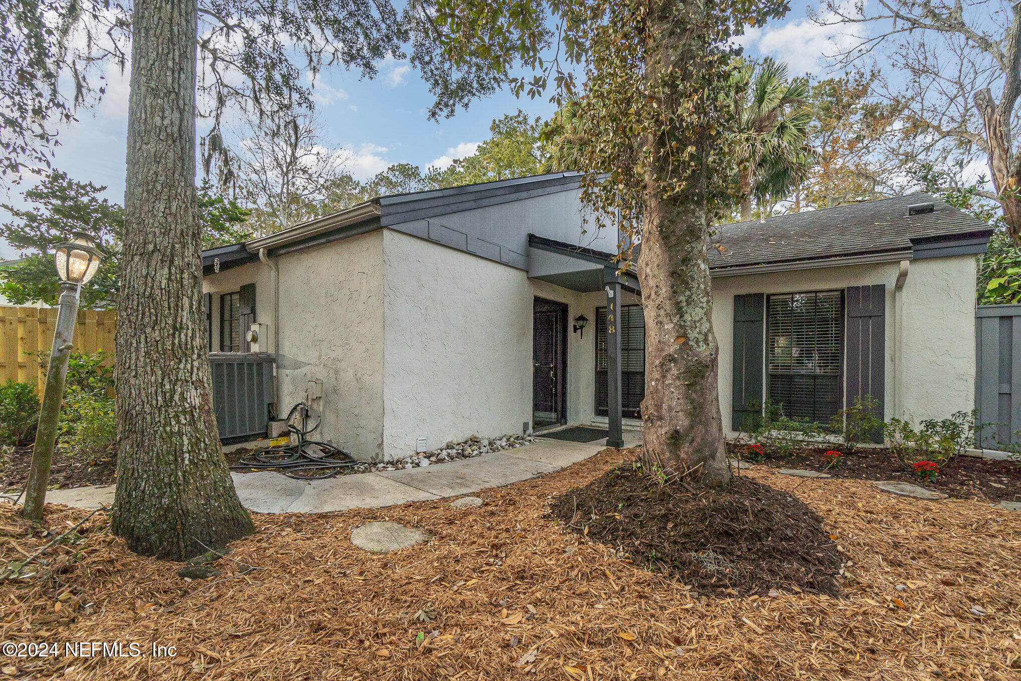
<svg viewBox="0 0 1021 681"><path fill-rule="evenodd" d="M760 414L763 403L763 334L766 329L766 295L734 296L734 378L731 430L740 430L745 416ZM749 407L748 403L759 405Z"/></svg>

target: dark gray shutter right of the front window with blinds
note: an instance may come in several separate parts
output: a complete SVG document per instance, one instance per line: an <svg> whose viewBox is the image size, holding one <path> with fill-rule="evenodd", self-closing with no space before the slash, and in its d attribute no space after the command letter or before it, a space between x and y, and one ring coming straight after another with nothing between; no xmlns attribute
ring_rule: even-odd
<svg viewBox="0 0 1021 681"><path fill-rule="evenodd" d="M849 407L856 397L868 395L878 403L876 416L882 419L886 386L886 285L852 286L844 296L847 310L844 405ZM873 440L881 442L882 432L874 433Z"/></svg>

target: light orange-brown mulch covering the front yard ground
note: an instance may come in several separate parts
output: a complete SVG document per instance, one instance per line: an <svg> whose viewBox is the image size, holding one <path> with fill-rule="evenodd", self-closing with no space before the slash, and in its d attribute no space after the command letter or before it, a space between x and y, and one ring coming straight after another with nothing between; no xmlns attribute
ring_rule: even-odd
<svg viewBox="0 0 1021 681"><path fill-rule="evenodd" d="M155 642L177 646L177 656L5 659L0 667L15 667L15 677L104 681L1021 675L1021 514L757 467L748 477L823 519L847 557L842 595L694 597L690 584L546 518L552 495L632 456L604 450L478 492L479 508L436 500L257 514L256 533L234 542L230 557L260 570L239 576L240 566L222 558L220 581L185 582L176 565L130 553L99 514L78 543L54 553L61 565L48 577L0 583L0 639L138 642L144 650ZM60 531L85 514L50 506L45 524ZM370 520L421 527L432 538L367 553L352 547L350 532ZM30 532L9 504L0 504L0 534L5 562L49 538ZM416 620L423 611L435 618Z"/></svg>

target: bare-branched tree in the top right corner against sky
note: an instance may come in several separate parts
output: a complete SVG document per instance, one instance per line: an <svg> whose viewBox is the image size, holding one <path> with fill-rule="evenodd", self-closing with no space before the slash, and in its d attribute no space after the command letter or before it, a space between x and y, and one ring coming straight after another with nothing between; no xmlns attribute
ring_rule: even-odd
<svg viewBox="0 0 1021 681"><path fill-rule="evenodd" d="M815 18L859 36L832 55L837 64L874 60L875 96L902 110L889 153L905 165L937 165L954 180L939 191L968 186L965 168L984 161L992 187L979 195L1000 204L1021 239L1021 3L826 0Z"/></svg>

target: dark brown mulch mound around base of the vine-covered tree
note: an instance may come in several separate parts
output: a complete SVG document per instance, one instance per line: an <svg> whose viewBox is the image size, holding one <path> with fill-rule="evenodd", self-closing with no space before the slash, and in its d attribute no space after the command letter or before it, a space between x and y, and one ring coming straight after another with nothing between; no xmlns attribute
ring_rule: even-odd
<svg viewBox="0 0 1021 681"><path fill-rule="evenodd" d="M747 477L725 491L661 484L630 465L577 487L551 517L698 592L838 595L843 556L800 499Z"/></svg>

